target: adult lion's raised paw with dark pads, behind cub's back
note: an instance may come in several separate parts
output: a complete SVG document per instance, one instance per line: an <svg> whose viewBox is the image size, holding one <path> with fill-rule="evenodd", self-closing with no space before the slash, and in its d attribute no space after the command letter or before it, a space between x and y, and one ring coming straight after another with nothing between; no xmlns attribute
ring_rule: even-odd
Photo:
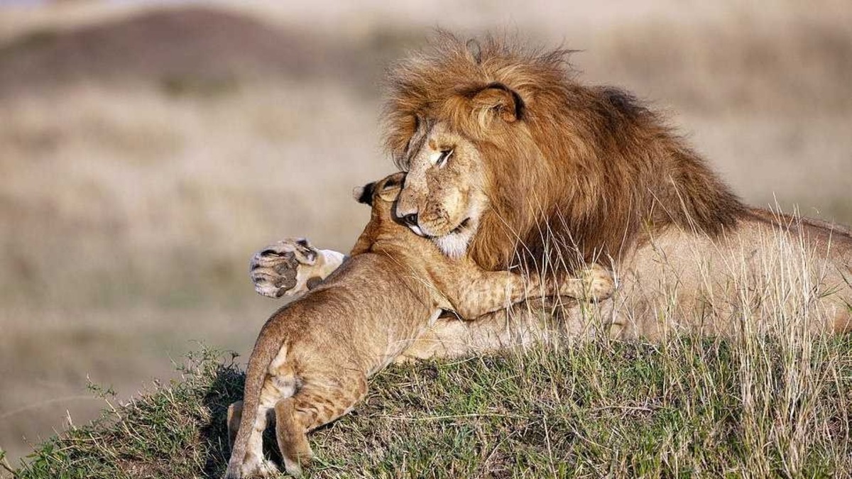
<svg viewBox="0 0 852 479"><path fill-rule="evenodd" d="M257 251L251 257L249 275L255 291L263 296L294 296L308 291L302 269L314 266L320 252L304 238L288 238Z"/></svg>

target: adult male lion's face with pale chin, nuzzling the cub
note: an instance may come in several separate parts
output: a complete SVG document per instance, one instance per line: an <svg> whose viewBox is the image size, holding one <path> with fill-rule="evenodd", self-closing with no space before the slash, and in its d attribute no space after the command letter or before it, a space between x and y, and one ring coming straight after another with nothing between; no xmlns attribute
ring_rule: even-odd
<svg viewBox="0 0 852 479"><path fill-rule="evenodd" d="M488 204L481 153L446 123L423 122L409 141L408 158L395 215L447 256L462 256Z"/></svg>

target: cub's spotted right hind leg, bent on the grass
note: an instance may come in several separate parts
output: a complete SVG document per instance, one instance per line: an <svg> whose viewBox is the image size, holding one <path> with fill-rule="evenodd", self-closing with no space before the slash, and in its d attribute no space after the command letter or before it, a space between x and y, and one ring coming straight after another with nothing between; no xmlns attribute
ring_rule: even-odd
<svg viewBox="0 0 852 479"><path fill-rule="evenodd" d="M345 371L348 377L302 378L302 389L275 404L275 437L291 476L301 476L302 466L314 457L308 431L352 411L367 392L362 373ZM333 388L330 388L331 385Z"/></svg>

